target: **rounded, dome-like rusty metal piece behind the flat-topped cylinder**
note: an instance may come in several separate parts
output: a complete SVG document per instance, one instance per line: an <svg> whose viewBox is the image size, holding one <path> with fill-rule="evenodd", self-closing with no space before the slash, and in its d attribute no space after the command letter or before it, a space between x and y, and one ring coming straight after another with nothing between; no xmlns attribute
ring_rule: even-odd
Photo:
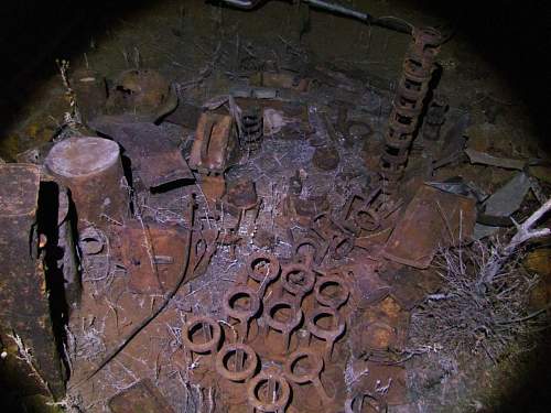
<svg viewBox="0 0 551 413"><path fill-rule="evenodd" d="M154 122L177 106L177 96L158 72L125 70L109 87L106 111L109 115L131 113L143 121Z"/></svg>

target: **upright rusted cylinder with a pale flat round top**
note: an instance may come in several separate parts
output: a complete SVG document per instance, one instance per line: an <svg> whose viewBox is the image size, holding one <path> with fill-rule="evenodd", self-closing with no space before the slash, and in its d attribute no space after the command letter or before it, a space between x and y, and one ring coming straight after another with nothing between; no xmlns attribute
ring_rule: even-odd
<svg viewBox="0 0 551 413"><path fill-rule="evenodd" d="M52 148L45 166L71 189L78 228L105 228L109 222L125 221L128 184L116 142L94 137L66 139Z"/></svg>

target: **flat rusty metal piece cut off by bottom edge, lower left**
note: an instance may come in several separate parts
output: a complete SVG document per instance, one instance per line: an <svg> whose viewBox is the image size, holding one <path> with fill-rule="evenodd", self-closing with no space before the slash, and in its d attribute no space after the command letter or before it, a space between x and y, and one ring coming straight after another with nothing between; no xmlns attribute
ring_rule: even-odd
<svg viewBox="0 0 551 413"><path fill-rule="evenodd" d="M151 380L140 380L109 400L112 413L174 413Z"/></svg>

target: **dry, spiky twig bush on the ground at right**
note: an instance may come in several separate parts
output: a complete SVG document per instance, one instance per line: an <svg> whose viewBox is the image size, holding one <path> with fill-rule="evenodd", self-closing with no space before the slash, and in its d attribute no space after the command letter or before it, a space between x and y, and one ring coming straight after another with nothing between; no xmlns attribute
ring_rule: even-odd
<svg viewBox="0 0 551 413"><path fill-rule="evenodd" d="M412 315L413 346L437 343L449 355L482 354L493 362L514 347L530 349L530 339L548 323L545 308L528 311L539 278L522 269L522 253L517 252L485 282L488 264L501 250L495 243L476 242L440 252L435 265L443 291L429 295Z"/></svg>

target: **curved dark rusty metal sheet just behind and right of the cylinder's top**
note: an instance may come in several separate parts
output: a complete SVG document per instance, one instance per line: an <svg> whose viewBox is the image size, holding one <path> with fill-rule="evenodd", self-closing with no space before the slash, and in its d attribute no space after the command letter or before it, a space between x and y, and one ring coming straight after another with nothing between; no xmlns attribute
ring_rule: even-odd
<svg viewBox="0 0 551 413"><path fill-rule="evenodd" d="M194 180L177 144L154 123L132 122L126 116L104 116L89 126L122 146L123 155L130 159L148 188Z"/></svg>

